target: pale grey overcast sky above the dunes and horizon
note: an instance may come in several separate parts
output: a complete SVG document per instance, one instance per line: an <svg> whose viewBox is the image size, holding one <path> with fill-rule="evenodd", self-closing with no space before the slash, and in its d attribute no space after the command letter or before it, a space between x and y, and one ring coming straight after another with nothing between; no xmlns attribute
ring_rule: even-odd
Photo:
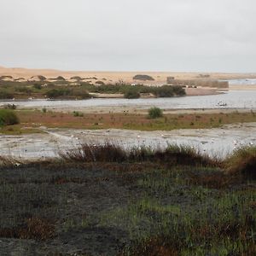
<svg viewBox="0 0 256 256"><path fill-rule="evenodd" d="M0 66L256 72L255 0L0 0Z"/></svg>

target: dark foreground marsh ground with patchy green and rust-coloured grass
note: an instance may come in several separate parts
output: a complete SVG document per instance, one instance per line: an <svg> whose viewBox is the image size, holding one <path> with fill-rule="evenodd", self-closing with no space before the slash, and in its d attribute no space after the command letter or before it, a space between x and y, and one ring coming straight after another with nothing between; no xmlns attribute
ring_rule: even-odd
<svg viewBox="0 0 256 256"><path fill-rule="evenodd" d="M1 255L255 255L255 179L230 171L241 152L220 162L176 145L82 150L5 161ZM242 160L255 163L252 152Z"/></svg>

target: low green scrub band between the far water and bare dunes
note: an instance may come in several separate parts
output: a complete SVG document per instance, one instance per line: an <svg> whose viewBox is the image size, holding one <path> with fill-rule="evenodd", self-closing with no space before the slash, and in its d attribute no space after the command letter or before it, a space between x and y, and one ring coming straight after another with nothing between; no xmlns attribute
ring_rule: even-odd
<svg viewBox="0 0 256 256"><path fill-rule="evenodd" d="M91 84L78 80L75 84L61 78L40 80L37 82L26 81L5 81L0 79L0 99L89 99L93 93L102 94L123 94L125 98L139 98L141 93L152 94L155 97L185 96L182 86L163 85L146 86L143 84L104 84L96 81Z"/></svg>

